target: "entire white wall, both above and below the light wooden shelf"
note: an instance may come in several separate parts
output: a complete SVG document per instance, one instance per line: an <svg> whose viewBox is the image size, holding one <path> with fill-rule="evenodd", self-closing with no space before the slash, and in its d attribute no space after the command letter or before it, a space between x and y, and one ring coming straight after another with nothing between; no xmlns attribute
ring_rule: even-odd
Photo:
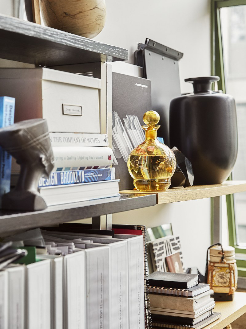
<svg viewBox="0 0 246 329"><path fill-rule="evenodd" d="M107 19L95 38L129 50L129 63L138 42L151 38L184 53L179 62L181 92L191 92L185 78L210 75L209 0L106 0ZM114 223L148 227L169 223L180 235L185 266L204 272L210 245L210 199L157 205L113 215Z"/></svg>

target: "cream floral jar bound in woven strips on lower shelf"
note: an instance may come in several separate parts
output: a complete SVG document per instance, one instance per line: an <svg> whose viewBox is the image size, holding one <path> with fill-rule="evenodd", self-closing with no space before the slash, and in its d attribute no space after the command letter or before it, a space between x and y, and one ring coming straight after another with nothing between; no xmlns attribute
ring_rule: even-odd
<svg viewBox="0 0 246 329"><path fill-rule="evenodd" d="M233 294L237 287L235 248L215 245L209 252L207 283L215 293Z"/></svg>

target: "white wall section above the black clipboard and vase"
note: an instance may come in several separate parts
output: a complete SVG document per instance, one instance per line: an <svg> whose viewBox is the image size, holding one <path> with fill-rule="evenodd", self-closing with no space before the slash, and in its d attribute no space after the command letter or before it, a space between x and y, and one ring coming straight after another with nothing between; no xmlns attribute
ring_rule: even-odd
<svg viewBox="0 0 246 329"><path fill-rule="evenodd" d="M185 78L210 75L209 0L105 1L106 24L95 40L128 49L129 63L146 38L181 51L182 92L192 91Z"/></svg>

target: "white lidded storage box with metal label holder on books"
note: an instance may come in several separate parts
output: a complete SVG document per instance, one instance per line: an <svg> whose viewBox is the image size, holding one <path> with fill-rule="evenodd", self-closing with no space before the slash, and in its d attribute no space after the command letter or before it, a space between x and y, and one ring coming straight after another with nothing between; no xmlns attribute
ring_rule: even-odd
<svg viewBox="0 0 246 329"><path fill-rule="evenodd" d="M49 68L0 68L14 122L46 118L51 132L100 133L101 80Z"/></svg>

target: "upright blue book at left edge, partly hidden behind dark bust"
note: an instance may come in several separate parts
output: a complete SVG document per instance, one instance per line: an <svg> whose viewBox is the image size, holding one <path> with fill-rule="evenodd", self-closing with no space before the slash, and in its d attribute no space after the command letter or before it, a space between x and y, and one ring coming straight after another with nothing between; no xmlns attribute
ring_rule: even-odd
<svg viewBox="0 0 246 329"><path fill-rule="evenodd" d="M0 128L14 123L15 98L0 97ZM10 191L11 156L0 147L0 198Z"/></svg>

